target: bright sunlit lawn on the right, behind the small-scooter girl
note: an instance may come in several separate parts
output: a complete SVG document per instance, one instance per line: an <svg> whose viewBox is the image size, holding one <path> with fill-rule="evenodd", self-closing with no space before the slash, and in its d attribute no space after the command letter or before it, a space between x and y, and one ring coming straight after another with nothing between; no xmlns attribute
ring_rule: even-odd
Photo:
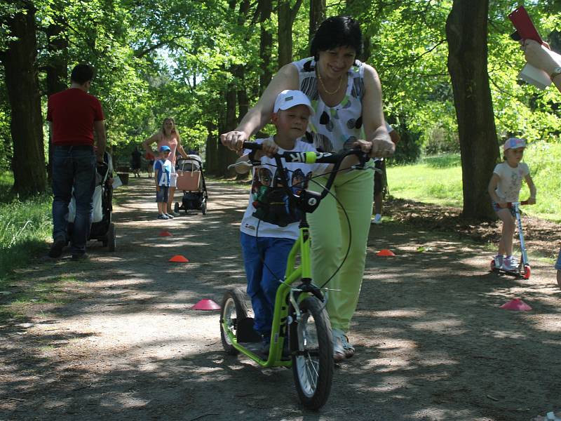
<svg viewBox="0 0 561 421"><path fill-rule="evenodd" d="M537 203L525 207L525 212L555 222L561 222L561 144L540 142L526 148L524 161L537 189ZM463 206L461 164L459 154L427 156L419 163L387 168L390 193L442 206ZM529 190L522 184L520 199Z"/></svg>

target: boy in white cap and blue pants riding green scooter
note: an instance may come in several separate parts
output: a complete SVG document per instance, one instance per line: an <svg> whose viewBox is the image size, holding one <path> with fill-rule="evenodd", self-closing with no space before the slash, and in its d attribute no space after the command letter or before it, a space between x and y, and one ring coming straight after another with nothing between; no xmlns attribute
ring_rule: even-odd
<svg viewBox="0 0 561 421"><path fill-rule="evenodd" d="M276 152L316 151L310 143L300 138L306 133L308 119L314 111L311 102L301 91L283 91L278 94L273 107L272 121L276 126L276 134L255 142L263 145L263 150L255 152L252 159L261 162L261 166L253 167L253 183L248 208L241 221L241 247L245 274L248 279L248 295L251 298L255 315L254 328L262 335L262 353L269 353L271 342L271 324L273 307L279 280L284 278L286 260L292 245L299 235L297 215L284 215L279 226L278 215L264 211L267 190L272 192L276 185L276 165L272 155ZM238 161L247 161L245 154ZM288 182L292 174L300 171L304 174L325 172L326 164L285 163L288 169ZM243 167L238 167L243 172ZM262 181L263 174L272 175L269 183ZM299 179L298 179L299 180ZM292 186L290 186L292 187ZM305 188L303 186L302 188ZM257 237L257 238L256 238Z"/></svg>

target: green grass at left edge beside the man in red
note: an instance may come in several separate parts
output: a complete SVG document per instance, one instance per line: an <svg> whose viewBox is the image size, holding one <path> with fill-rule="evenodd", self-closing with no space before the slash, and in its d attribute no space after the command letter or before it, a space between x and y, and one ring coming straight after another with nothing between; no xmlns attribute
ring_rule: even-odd
<svg viewBox="0 0 561 421"><path fill-rule="evenodd" d="M9 173L0 173L0 286L13 269L45 249L52 229L50 195L20 201L9 194L12 183Z"/></svg>

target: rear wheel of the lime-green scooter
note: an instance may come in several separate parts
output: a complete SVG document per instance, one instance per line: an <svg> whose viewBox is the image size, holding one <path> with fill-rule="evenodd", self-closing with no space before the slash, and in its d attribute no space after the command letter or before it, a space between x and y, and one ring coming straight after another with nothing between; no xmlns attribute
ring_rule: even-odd
<svg viewBox="0 0 561 421"><path fill-rule="evenodd" d="M248 306L245 305L245 293L239 288L227 291L222 298L222 309L220 310L220 338L222 347L229 355L238 355L239 351L234 347L228 335L231 333L236 337L238 326L242 319L248 317Z"/></svg>

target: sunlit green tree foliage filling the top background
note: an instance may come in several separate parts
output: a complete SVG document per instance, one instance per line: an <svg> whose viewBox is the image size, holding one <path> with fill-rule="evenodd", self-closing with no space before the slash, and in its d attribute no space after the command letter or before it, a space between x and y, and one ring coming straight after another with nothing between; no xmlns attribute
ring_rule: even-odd
<svg viewBox="0 0 561 421"><path fill-rule="evenodd" d="M173 116L186 149L203 154L208 149L210 168L222 173L222 163L216 160L222 154L217 135L227 127L227 118L231 120L227 104L240 119L257 101L279 60L309 55L311 17L324 4L327 16L347 14L361 22L365 34L361 60L379 72L386 119L408 140L398 153L400 159L459 150L445 34L452 0L29 1L37 11L43 113L53 89L47 83L47 69L62 63L68 71L78 62L90 62L97 71L91 92L104 107L108 140L117 159L119 155L128 159L133 144L154 133L166 116ZM559 142L558 93L539 91L517 78L523 57L509 38L513 27L507 16L518 3L489 1L487 70L496 144L509 135ZM560 3L525 1L553 48L561 48ZM20 0L0 0L0 51L13 36L6 21L20 9ZM289 24L290 46L285 35ZM1 168L8 168L13 151L5 82L0 74ZM229 96L232 92L236 100Z"/></svg>

